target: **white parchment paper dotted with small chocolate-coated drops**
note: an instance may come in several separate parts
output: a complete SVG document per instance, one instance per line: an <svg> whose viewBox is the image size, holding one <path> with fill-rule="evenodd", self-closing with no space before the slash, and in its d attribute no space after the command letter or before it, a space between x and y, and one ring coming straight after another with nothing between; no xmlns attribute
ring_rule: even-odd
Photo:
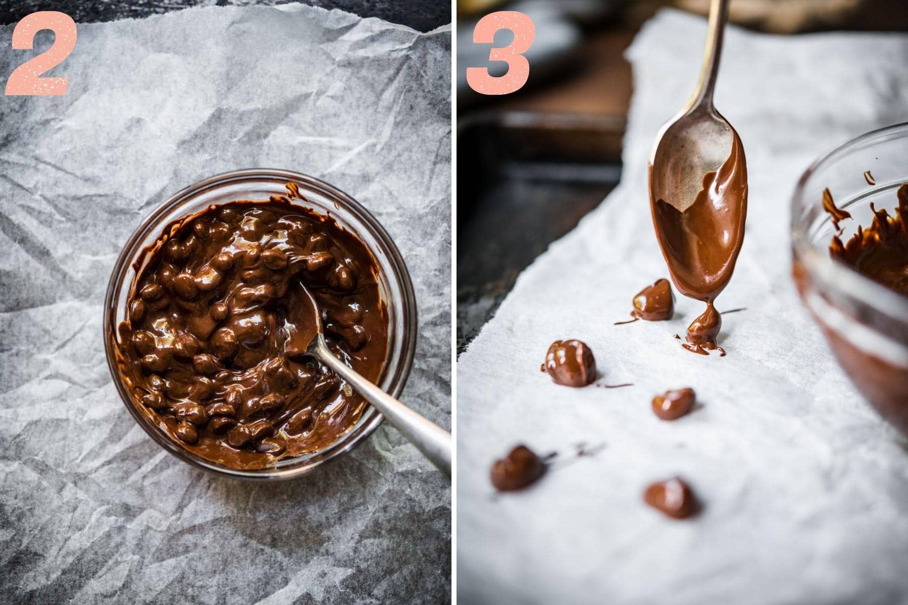
<svg viewBox="0 0 908 605"><path fill-rule="evenodd" d="M727 31L716 106L744 141L750 199L717 304L746 307L724 319L725 357L672 337L702 310L689 299L670 322L612 325L667 277L646 162L693 90L705 39L705 20L681 13L646 24L628 52L621 185L520 276L459 358L464 603L908 602L905 441L857 395L796 298L788 230L814 158L908 120L908 37ZM635 386L553 384L539 364L559 338L586 341L604 382ZM651 397L680 386L703 407L658 420ZM564 460L577 442L605 449ZM489 465L517 443L565 455L528 491L495 496ZM642 503L647 483L675 473L705 505L696 520Z"/></svg>

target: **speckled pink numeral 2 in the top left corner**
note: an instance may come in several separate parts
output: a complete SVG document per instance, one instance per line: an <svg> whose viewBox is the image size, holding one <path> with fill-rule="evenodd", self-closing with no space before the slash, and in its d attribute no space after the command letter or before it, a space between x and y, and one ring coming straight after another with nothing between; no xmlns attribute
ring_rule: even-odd
<svg viewBox="0 0 908 605"><path fill-rule="evenodd" d="M54 44L44 53L32 57L15 68L6 81L7 95L59 95L66 93L68 78L39 78L42 73L53 69L73 52L75 48L75 22L69 15L56 11L38 11L15 25L13 48L31 50L35 34L43 29L54 31Z"/></svg>

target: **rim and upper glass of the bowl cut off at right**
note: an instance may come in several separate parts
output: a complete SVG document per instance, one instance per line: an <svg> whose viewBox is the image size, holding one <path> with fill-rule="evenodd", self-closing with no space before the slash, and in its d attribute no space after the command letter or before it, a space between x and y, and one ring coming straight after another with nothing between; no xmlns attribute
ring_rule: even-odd
<svg viewBox="0 0 908 605"><path fill-rule="evenodd" d="M821 246L819 242L810 241L806 233L806 226L803 224L804 221L800 220L800 212L797 211L807 204L819 203L818 201L809 202L804 199L804 189L807 186L807 181L816 171L856 147L862 147L869 142L887 138L894 133L908 135L908 122L900 122L870 132L864 132L864 134L854 137L854 139L844 141L835 146L832 150L825 152L814 160L795 185L791 198L790 224L792 247L795 250L795 255L812 278L819 278L824 284L832 285L834 288L846 292L867 307L878 309L887 316L908 317L908 298L873 281L871 278L865 277L854 268L830 258L828 247Z"/></svg>

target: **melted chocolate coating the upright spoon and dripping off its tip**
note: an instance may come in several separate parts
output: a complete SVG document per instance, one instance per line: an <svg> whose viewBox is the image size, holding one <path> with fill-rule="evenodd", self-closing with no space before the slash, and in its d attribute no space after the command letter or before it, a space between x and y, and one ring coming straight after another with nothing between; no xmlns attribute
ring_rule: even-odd
<svg viewBox="0 0 908 605"><path fill-rule="evenodd" d="M734 129L732 134L728 159L718 171L706 173L703 187L690 206L678 210L681 200L675 203L650 200L656 239L672 281L681 294L707 304L706 312L687 332L687 342L691 345L687 348L703 354L705 349L716 348L722 323L712 303L731 279L744 242L747 167L744 146ZM650 166L651 191L652 169ZM695 326L697 333L692 333ZM704 338L704 329L713 326L716 326L715 334Z"/></svg>

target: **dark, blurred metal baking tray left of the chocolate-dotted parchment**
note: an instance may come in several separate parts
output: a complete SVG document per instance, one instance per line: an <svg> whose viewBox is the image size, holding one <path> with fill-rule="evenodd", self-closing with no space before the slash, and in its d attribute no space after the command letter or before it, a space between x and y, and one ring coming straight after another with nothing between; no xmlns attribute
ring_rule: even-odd
<svg viewBox="0 0 908 605"><path fill-rule="evenodd" d="M624 116L483 112L458 127L457 345L621 178Z"/></svg>

